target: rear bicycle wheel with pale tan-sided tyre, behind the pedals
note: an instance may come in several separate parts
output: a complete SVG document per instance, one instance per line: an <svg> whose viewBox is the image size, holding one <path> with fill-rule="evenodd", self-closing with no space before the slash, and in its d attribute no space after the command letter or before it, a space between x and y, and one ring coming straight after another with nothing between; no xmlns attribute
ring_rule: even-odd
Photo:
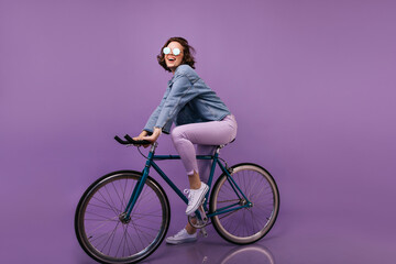
<svg viewBox="0 0 396 264"><path fill-rule="evenodd" d="M274 226L279 211L279 191L274 178L263 167L242 163L232 166L231 177L252 207L224 212L211 218L216 231L227 241L250 244L262 239ZM210 195L210 213L231 205L244 206L246 200L237 195L223 173Z"/></svg>

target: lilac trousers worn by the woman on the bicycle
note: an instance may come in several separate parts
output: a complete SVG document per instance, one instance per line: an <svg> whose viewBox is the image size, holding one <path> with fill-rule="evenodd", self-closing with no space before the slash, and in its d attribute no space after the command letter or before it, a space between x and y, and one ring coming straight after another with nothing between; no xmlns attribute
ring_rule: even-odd
<svg viewBox="0 0 396 264"><path fill-rule="evenodd" d="M211 161L197 161L196 155L212 155L218 145L227 144L235 139L237 129L237 121L232 114L227 116L221 121L176 127L170 132L170 135L187 175L193 175L194 172L197 172L201 180L207 182Z"/></svg>

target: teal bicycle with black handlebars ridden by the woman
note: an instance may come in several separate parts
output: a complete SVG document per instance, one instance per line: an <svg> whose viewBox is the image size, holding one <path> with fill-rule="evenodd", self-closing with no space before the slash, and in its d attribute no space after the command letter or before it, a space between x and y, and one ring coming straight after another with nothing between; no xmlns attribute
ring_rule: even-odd
<svg viewBox="0 0 396 264"><path fill-rule="evenodd" d="M122 145L151 144L114 138ZM231 167L219 154L197 155L211 160L209 191L202 205L188 221L206 237L209 219L224 240L250 244L262 239L275 223L279 211L279 193L272 175L253 163ZM119 170L92 183L81 196L75 215L75 231L84 251L100 263L136 263L151 255L164 240L170 221L167 195L151 176L158 175L186 204L188 199L154 161L179 160L179 155L155 155L157 143L151 145L142 172ZM222 174L211 184L216 166ZM210 196L209 196L209 193ZM209 201L209 208L208 208Z"/></svg>

